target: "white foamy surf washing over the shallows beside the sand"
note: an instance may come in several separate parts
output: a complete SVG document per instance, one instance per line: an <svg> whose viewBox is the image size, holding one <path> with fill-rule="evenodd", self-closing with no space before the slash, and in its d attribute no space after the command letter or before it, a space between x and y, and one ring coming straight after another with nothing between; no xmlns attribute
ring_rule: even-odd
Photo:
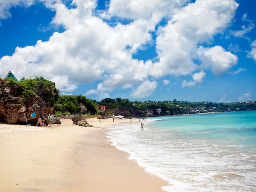
<svg viewBox="0 0 256 192"><path fill-rule="evenodd" d="M167 180L170 186L163 189L168 192L256 191L255 151L246 144L221 138L223 130L216 127L197 131L194 125L176 126L172 120L170 129L163 123L170 121L150 120L144 131L140 124L115 127L107 137L146 171Z"/></svg>

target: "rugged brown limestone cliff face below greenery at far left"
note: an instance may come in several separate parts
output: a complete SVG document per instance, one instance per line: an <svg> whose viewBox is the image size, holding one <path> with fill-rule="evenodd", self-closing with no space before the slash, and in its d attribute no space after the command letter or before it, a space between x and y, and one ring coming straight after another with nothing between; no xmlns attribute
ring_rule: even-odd
<svg viewBox="0 0 256 192"><path fill-rule="evenodd" d="M8 83L5 80L0 80L0 121L8 124L35 124L38 116L48 116L52 114L53 108L50 102L44 101L42 98L42 84L39 84L38 95L29 102L19 102L20 96L14 96ZM33 117L32 114L35 113Z"/></svg>

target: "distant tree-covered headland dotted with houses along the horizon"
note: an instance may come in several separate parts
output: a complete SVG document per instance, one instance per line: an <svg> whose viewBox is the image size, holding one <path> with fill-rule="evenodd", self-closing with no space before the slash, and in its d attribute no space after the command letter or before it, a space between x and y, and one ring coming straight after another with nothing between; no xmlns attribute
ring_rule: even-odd
<svg viewBox="0 0 256 192"><path fill-rule="evenodd" d="M106 106L106 110L113 108L125 107L130 114L134 116L140 114L145 116L159 116L172 114L196 114L205 112L230 112L256 110L255 102L239 103L213 103L213 102L187 102L187 101L135 101L130 102L128 99L111 99L106 98L98 102L99 106Z"/></svg>

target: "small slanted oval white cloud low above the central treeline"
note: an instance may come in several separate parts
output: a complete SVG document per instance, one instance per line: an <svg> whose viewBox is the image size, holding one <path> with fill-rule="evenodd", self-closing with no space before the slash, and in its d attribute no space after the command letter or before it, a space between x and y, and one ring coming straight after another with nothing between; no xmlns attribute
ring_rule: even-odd
<svg viewBox="0 0 256 192"><path fill-rule="evenodd" d="M156 81L150 82L146 80L142 82L135 90L132 91L131 96L134 98L143 98L150 96L156 89Z"/></svg>

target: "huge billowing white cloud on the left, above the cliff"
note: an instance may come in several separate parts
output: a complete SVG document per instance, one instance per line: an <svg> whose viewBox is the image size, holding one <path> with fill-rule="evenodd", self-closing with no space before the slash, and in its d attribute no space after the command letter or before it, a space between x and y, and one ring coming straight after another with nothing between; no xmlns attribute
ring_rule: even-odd
<svg viewBox="0 0 256 192"><path fill-rule="evenodd" d="M54 79L60 90L75 88L69 86L69 82L81 84L104 78L104 82L98 85L98 91L113 91L117 87L131 87L137 82L136 73L140 81L147 77L135 70L138 66L144 68L143 62L132 60L132 51L125 49L130 44L136 50L151 38L146 23L136 21L112 28L91 14L81 21L78 10L68 10L63 4L55 4L54 8L54 22L64 23L67 30L54 33L47 42L38 41L35 46L16 48L12 56L0 60L3 69L8 70L12 66L18 77L29 72L30 76ZM61 78L54 78L62 75L68 78L66 88L63 88Z"/></svg>

